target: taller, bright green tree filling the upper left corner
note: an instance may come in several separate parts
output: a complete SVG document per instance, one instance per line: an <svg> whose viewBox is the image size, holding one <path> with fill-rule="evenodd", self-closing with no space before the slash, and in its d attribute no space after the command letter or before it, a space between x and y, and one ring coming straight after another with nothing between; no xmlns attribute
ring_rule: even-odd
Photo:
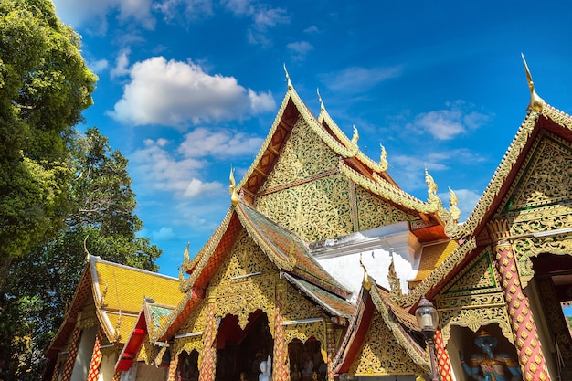
<svg viewBox="0 0 572 381"><path fill-rule="evenodd" d="M67 144L96 82L79 45L50 0L0 2L0 291L66 216Z"/></svg>

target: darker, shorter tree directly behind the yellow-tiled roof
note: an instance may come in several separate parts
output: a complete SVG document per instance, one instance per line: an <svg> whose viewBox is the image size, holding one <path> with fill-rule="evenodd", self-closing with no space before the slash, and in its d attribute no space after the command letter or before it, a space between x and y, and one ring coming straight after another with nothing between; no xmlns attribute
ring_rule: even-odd
<svg viewBox="0 0 572 381"><path fill-rule="evenodd" d="M15 259L4 299L0 332L0 378L39 379L42 353L62 322L85 267L86 253L144 270L161 251L137 237L143 224L134 214L135 195L127 160L111 151L97 128L69 146L73 180L65 227L30 255ZM2 366L3 360L5 366Z"/></svg>

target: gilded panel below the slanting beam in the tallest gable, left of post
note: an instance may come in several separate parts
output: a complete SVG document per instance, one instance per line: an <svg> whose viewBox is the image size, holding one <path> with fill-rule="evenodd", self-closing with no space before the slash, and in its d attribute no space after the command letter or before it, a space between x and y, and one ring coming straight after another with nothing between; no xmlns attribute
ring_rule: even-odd
<svg viewBox="0 0 572 381"><path fill-rule="evenodd" d="M353 232L349 184L334 173L257 198L261 213L308 241Z"/></svg>

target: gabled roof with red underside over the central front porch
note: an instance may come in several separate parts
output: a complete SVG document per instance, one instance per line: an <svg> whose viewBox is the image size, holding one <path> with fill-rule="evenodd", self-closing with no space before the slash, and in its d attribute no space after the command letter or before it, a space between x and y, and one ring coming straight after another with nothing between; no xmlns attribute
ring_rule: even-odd
<svg viewBox="0 0 572 381"><path fill-rule="evenodd" d="M291 274L292 279L305 281L305 284L320 289L322 291L321 302L331 303L329 312L333 315L339 312L339 316L346 317L351 307L344 305L341 301L344 301L351 291L346 290L326 270L323 270L322 266L313 259L307 243L302 238L274 223L240 199L236 206L230 206L227 217L217 228L215 234L196 254L198 258L196 266L182 285L182 290L187 294L154 334L153 341L163 341L171 337L185 322L198 302L204 298L209 280L217 272L243 228L278 270Z"/></svg>

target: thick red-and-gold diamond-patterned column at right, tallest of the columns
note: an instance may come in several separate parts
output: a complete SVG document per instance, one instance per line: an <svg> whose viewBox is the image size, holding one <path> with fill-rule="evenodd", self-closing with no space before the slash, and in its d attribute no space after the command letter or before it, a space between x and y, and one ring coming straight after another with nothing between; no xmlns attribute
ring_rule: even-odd
<svg viewBox="0 0 572 381"><path fill-rule="evenodd" d="M530 302L524 294L516 259L509 241L508 222L497 219L487 226L491 237L495 240L494 252L496 265L501 275L504 297L513 326L514 343L518 353L518 361L526 380L549 380L546 370L545 356L538 340L535 319L530 310Z"/></svg>

